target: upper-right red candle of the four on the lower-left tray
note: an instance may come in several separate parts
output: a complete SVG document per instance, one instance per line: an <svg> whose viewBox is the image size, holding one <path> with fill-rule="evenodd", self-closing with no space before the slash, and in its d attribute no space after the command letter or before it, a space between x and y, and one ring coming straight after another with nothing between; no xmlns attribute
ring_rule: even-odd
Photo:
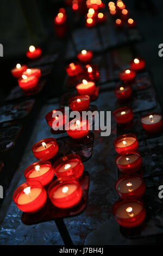
<svg viewBox="0 0 163 256"><path fill-rule="evenodd" d="M54 165L54 173L57 178L74 177L79 179L83 174L84 166L80 156L70 154L58 159Z"/></svg>

